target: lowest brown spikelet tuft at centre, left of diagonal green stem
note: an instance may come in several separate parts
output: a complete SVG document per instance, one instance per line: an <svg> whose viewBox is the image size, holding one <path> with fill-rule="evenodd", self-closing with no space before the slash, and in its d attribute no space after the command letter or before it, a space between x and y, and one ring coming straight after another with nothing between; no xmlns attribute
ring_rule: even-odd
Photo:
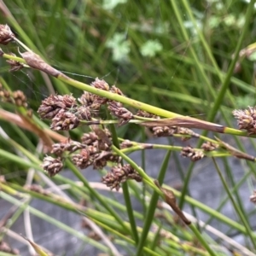
<svg viewBox="0 0 256 256"><path fill-rule="evenodd" d="M111 172L105 177L102 177L102 183L106 184L110 189L120 188L120 183L125 183L127 179L134 179L137 182L142 182L143 177L141 177L137 171L135 171L130 165L113 166Z"/></svg>

